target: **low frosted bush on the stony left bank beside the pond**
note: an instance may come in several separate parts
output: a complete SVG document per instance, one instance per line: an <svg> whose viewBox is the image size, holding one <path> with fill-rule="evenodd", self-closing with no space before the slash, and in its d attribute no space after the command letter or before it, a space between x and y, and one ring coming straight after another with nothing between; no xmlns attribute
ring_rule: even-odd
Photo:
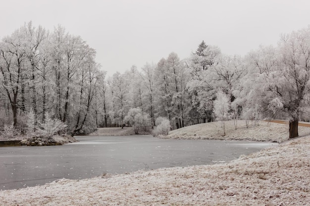
<svg viewBox="0 0 310 206"><path fill-rule="evenodd" d="M43 137L52 137L54 134L63 132L67 127L66 124L61 122L58 119L52 119L49 113L46 114L45 121L43 123L39 123L37 127L36 133Z"/></svg>

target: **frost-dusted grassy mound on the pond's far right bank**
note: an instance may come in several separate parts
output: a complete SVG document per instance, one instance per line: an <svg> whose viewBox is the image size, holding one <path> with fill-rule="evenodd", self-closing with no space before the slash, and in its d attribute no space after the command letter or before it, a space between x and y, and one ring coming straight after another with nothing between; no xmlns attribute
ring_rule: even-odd
<svg viewBox="0 0 310 206"><path fill-rule="evenodd" d="M180 129L172 130L167 136L161 138L167 139L217 139L217 140L249 140L249 141L271 141L283 142L289 137L288 124L277 124L259 121L259 124L251 124L246 128L244 120L237 122L235 129L234 121L225 121L225 132L221 122L212 122L205 124L195 124ZM310 127L299 126L299 136L310 134Z"/></svg>

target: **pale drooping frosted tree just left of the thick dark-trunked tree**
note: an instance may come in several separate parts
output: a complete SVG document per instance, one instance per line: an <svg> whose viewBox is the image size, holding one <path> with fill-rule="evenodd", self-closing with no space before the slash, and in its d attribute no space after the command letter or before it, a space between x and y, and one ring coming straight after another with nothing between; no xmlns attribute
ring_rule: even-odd
<svg viewBox="0 0 310 206"><path fill-rule="evenodd" d="M245 58L245 66L247 74L240 82L240 89L234 91L234 96L237 99L233 105L242 107L242 118L246 121L246 126L249 126L249 121L258 122L263 116L265 110L264 91L266 74L275 71L278 67L277 51L272 46L260 46L257 51L251 51ZM263 106L265 105L265 106ZM265 117L275 117L270 113L264 114ZM282 118L278 116L278 118Z"/></svg>

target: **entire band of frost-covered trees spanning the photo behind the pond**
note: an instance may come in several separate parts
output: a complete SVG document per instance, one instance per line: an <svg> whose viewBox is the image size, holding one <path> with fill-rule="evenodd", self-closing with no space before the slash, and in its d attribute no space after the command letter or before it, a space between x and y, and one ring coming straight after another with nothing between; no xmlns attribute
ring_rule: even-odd
<svg viewBox="0 0 310 206"><path fill-rule="evenodd" d="M137 115L144 127L164 117L172 129L214 117L278 118L290 121L290 137L295 137L298 121L308 121L310 28L244 57L224 55L203 41L186 59L172 52L157 64L132 66L108 78L95 55L60 26L50 33L30 22L3 38L0 106L2 116L11 118L2 124L13 121L22 128L30 110L36 123L51 114L71 134L134 125L130 117Z"/></svg>

